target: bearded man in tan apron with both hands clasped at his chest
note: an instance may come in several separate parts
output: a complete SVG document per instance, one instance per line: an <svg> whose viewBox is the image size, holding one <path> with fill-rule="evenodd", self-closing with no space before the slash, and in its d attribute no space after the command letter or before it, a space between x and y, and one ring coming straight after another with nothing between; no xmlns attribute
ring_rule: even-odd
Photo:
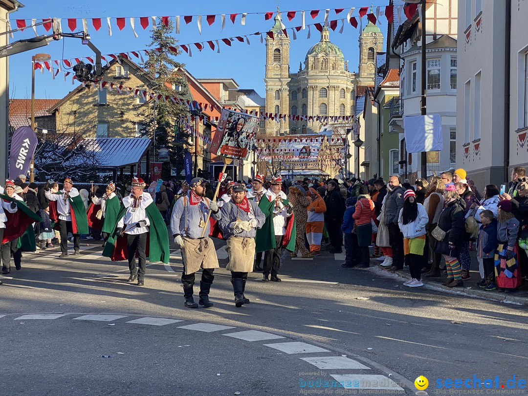
<svg viewBox="0 0 528 396"><path fill-rule="evenodd" d="M256 228L262 227L266 216L255 201L248 200L246 187L237 184L233 187L231 202L222 206L222 218L219 222L224 238L227 239L229 263L226 269L231 271L235 306L248 304L244 296L248 272L253 271Z"/></svg>

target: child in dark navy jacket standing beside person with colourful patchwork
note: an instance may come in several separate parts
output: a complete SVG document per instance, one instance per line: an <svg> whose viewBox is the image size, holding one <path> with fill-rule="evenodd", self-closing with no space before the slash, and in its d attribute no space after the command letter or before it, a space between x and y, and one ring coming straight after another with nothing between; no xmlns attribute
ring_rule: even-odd
<svg viewBox="0 0 528 396"><path fill-rule="evenodd" d="M484 267L484 279L477 283L485 290L495 290L495 251L498 247L497 220L491 210L480 212L480 230L477 240L477 257Z"/></svg>

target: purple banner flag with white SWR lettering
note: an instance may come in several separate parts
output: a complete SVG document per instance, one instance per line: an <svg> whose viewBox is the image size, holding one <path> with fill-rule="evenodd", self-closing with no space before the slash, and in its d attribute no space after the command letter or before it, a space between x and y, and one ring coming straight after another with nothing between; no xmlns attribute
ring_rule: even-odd
<svg viewBox="0 0 528 396"><path fill-rule="evenodd" d="M26 175L31 165L38 143L35 132L28 126L15 130L11 138L9 178L14 180L18 175Z"/></svg>

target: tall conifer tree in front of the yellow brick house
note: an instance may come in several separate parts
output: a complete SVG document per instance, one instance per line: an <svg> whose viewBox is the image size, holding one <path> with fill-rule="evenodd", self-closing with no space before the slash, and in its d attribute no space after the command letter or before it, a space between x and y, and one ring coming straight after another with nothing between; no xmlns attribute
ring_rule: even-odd
<svg viewBox="0 0 528 396"><path fill-rule="evenodd" d="M161 95L162 99L158 100L156 97L147 100L139 108L138 116L142 118L142 124L145 126L143 136L150 137L155 142L155 152L162 147L169 150L170 162L164 163L162 167L162 178L167 180L170 177L169 165L177 165L177 168L183 169L183 157L191 145L191 134L180 127L180 118L189 114L188 106L172 100L165 101L163 98L176 95L186 98L188 87L183 72L175 71L183 68L184 64L175 59L181 51L175 46L178 40L172 36L172 21L168 20L165 25L160 17L156 29L150 32L151 42L148 47L152 50L141 66L145 70L146 80L149 81L149 92ZM150 157L155 159L154 151Z"/></svg>

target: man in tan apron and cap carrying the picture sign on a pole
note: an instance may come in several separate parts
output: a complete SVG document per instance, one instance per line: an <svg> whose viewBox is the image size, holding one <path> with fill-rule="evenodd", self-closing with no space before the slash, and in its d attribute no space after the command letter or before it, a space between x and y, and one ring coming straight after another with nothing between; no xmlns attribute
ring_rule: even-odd
<svg viewBox="0 0 528 396"><path fill-rule="evenodd" d="M191 180L191 191L188 196L181 197L174 205L171 216L171 230L174 242L182 250L183 272L182 285L184 305L187 308L197 308L193 299L195 272L202 268L200 281L200 299L198 303L205 308L213 306L209 301L209 292L213 284L215 268L219 268L216 249L209 238L211 223L206 222L209 209L214 220L220 220L221 215L216 202L204 197L205 179L195 177ZM203 229L205 227L205 233ZM202 237L202 234L205 235Z"/></svg>

